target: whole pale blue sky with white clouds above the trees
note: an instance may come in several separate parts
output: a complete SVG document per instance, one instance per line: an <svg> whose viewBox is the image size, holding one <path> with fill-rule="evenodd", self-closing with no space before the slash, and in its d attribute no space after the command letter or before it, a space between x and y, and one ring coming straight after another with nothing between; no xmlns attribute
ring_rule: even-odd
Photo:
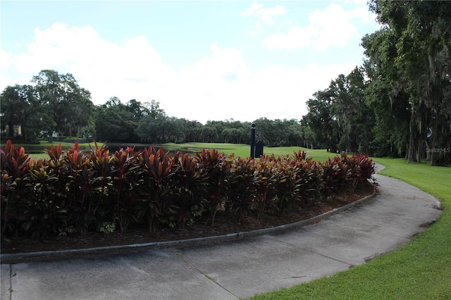
<svg viewBox="0 0 451 300"><path fill-rule="evenodd" d="M197 120L296 119L364 61L366 0L0 2L0 90L70 73L92 102Z"/></svg>

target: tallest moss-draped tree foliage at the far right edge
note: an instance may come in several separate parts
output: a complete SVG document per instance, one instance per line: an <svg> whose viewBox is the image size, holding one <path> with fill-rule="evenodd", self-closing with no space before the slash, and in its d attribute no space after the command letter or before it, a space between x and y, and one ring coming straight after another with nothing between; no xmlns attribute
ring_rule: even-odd
<svg viewBox="0 0 451 300"><path fill-rule="evenodd" d="M405 151L409 163L430 158L432 165L447 165L451 161L447 151L451 146L451 3L371 0L369 8L382 25L362 39L371 92L377 93L372 101L385 108L385 112L376 112L376 133L382 135L385 130L381 120L394 118L391 128L408 136ZM383 104L387 98L390 106ZM400 105L404 113L397 110ZM402 118L406 110L407 126ZM396 144L404 142L399 135L395 138Z"/></svg>

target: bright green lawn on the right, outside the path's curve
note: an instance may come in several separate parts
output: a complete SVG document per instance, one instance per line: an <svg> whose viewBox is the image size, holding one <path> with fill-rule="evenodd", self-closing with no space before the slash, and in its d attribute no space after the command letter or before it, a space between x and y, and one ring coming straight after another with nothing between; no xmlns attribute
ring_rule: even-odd
<svg viewBox="0 0 451 300"><path fill-rule="evenodd" d="M451 168L375 158L382 175L433 194L444 211L401 249L342 273L251 299L451 299Z"/></svg>

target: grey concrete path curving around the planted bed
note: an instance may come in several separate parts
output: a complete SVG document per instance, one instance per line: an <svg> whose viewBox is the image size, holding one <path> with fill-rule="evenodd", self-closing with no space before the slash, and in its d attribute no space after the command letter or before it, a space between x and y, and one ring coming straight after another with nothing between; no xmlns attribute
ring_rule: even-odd
<svg viewBox="0 0 451 300"><path fill-rule="evenodd" d="M292 287L397 249L440 202L376 175L378 196L313 225L233 242L1 264L1 299L242 299Z"/></svg>

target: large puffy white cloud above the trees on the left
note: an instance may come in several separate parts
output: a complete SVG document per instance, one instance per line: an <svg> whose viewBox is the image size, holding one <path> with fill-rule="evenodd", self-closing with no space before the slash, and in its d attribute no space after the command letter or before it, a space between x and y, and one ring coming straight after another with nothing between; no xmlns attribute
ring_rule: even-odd
<svg viewBox="0 0 451 300"><path fill-rule="evenodd" d="M28 73L30 79L43 69L73 73L92 92L96 104L119 95L128 101L144 89L152 94L173 76L144 36L125 39L120 45L102 39L91 26L55 23L46 30L36 29L35 41L27 48L12 58L18 73Z"/></svg>

